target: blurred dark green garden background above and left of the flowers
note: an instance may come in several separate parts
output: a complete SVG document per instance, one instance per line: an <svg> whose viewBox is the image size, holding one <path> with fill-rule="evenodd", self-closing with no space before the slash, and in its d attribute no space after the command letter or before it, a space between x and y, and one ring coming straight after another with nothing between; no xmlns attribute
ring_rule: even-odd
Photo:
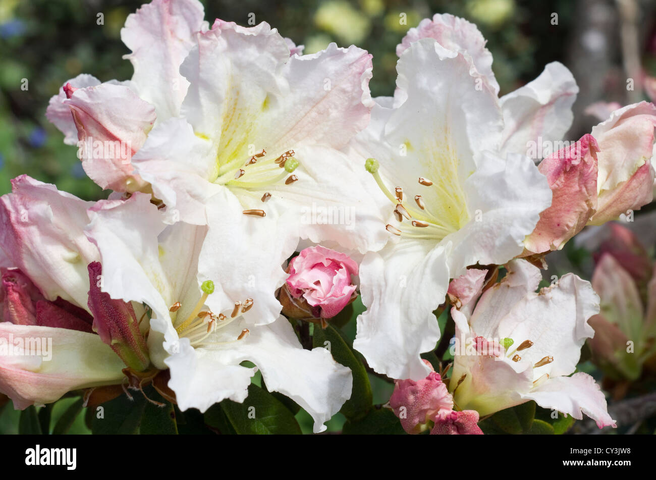
<svg viewBox="0 0 656 480"><path fill-rule="evenodd" d="M79 73L101 81L129 79L122 56L125 18L140 0L0 0L0 194L27 173L87 200L106 197L81 168L75 147L47 121L49 98ZM408 28L436 12L475 22L488 39L501 93L535 78L545 64L567 64L575 38L577 3L569 0L203 0L205 18L246 25L249 14L266 21L312 53L335 41L373 54L375 96L390 95L396 80L395 47ZM612 4L612 2L611 2ZM98 14L104 24L98 25ZM552 12L558 25L552 25ZM403 22L405 20L405 24ZM569 49L571 50L571 49ZM25 80L24 80L25 79ZM27 89L22 85L27 81ZM609 100L621 100L612 98ZM578 136L577 136L578 138Z"/></svg>

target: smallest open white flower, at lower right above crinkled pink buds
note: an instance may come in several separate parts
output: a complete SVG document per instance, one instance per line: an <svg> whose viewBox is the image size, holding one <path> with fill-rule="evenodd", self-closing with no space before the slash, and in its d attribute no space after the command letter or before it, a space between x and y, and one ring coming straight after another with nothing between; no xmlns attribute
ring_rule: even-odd
<svg viewBox="0 0 656 480"><path fill-rule="evenodd" d="M485 416L535 400L579 420L583 412L600 428L615 426L594 378L569 376L594 336L588 319L599 312L599 297L573 273L535 293L541 279L539 268L513 260L500 283L482 295L479 289L473 313L451 309L456 344L449 390L456 405Z"/></svg>

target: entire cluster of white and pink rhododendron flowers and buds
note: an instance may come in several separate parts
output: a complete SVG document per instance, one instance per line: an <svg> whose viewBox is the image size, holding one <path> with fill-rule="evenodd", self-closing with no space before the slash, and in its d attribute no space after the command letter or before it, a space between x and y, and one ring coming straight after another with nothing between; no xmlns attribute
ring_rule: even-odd
<svg viewBox="0 0 656 480"><path fill-rule="evenodd" d="M317 339L360 295L359 353L346 348L397 379L384 408L407 433L483 433L482 417L528 401L615 426L575 371L588 339L627 375L638 367L617 342L648 329L638 358L653 353L653 298L645 308L632 283L651 292L651 269L628 262L607 281L622 262L607 247L592 285L567 273L538 292L539 267L586 225L651 202L653 104L541 159L531 148L571 125L575 79L554 62L500 97L462 18L411 28L394 96L371 98L365 50L304 55L266 22L203 16L197 0L153 0L121 30L132 79L79 75L52 97L47 117L107 199L28 176L0 198L0 340L52 339L49 361L0 355L16 408L167 372L167 399L205 412L243 403L259 371L323 431L352 411L361 375ZM440 340L436 311L455 325L440 372L421 356Z"/></svg>

